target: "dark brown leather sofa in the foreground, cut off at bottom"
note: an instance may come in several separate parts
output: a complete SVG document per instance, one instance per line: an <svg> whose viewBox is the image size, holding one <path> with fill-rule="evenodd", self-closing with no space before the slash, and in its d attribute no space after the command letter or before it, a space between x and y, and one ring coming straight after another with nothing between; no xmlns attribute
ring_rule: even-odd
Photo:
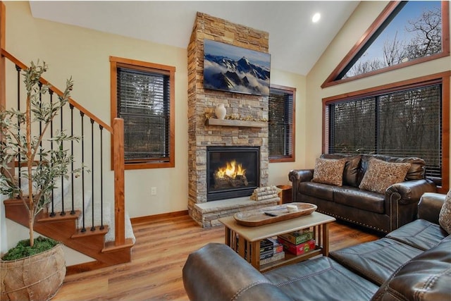
<svg viewBox="0 0 451 301"><path fill-rule="evenodd" d="M445 195L426 193L418 219L380 240L261 274L230 247L190 254L190 300L451 300L451 235L438 225Z"/></svg>

